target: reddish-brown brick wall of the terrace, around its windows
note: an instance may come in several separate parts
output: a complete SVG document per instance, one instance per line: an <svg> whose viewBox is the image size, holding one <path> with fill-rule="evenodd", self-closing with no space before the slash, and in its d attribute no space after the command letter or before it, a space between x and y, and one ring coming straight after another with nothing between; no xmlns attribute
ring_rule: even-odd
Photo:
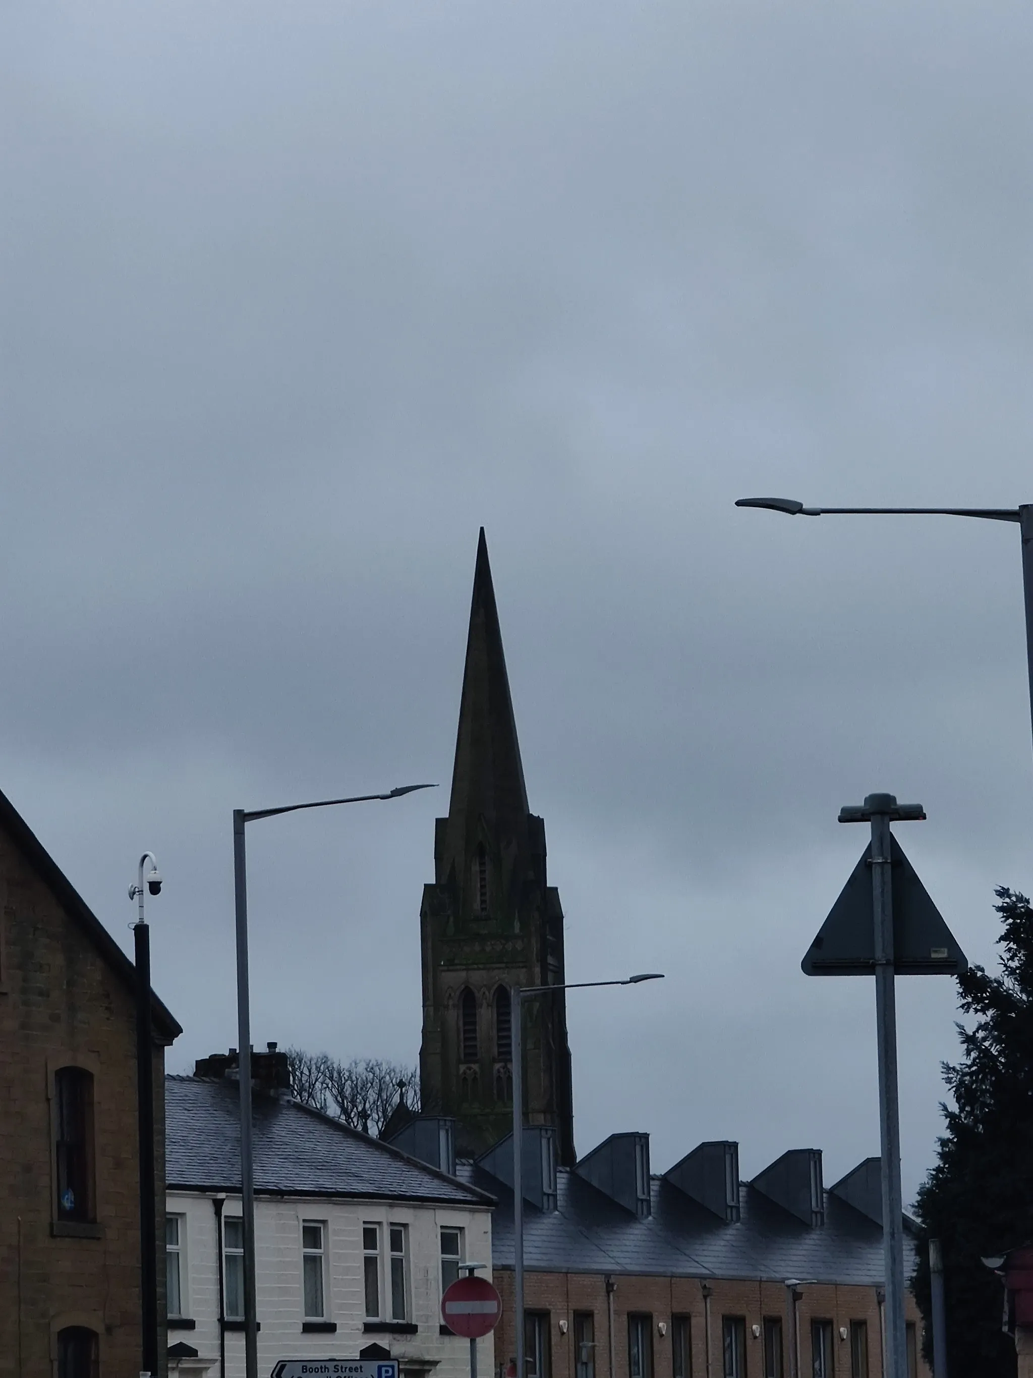
<svg viewBox="0 0 1033 1378"><path fill-rule="evenodd" d="M494 1352L504 1364L515 1353L512 1330L512 1271L499 1269L494 1284L503 1298L503 1319L496 1330ZM696 1277L651 1277L612 1275L613 1356L610 1356L609 1295L606 1276L599 1273L539 1273L528 1272L523 1279L525 1310L548 1313L551 1350L551 1378L574 1375L574 1312L592 1312L595 1324L595 1378L629 1378L628 1375L628 1316L646 1313L651 1317L654 1378L672 1378L671 1317L690 1317L693 1378L723 1378L722 1322L724 1316L745 1319L747 1352L745 1378L763 1375L763 1322L777 1316L784 1331L784 1374L789 1378L789 1319L786 1288L780 1282L711 1279L709 1333L711 1367L707 1366L707 1304ZM881 1374L880 1309L875 1287L847 1287L811 1283L800 1288L799 1302L800 1367L811 1374L811 1320L832 1322L833 1371L850 1374L850 1323L864 1320L868 1326L869 1378ZM920 1326L915 1302L908 1297L908 1320ZM566 1334L561 1331L566 1323ZM660 1333L660 1326L665 1334ZM753 1335L753 1327L760 1337ZM846 1339L842 1331L846 1330ZM919 1330L920 1334L920 1330ZM612 1364L612 1367L610 1367ZM919 1357L920 1378L930 1378L928 1368Z"/></svg>

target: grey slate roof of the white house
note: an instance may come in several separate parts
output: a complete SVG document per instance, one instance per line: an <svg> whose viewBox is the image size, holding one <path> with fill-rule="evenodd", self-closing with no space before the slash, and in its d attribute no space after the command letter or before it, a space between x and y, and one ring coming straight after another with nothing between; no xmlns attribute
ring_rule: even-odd
<svg viewBox="0 0 1033 1378"><path fill-rule="evenodd" d="M493 1196L288 1097L253 1101L255 1191L492 1206ZM240 1191L236 1080L165 1078L169 1191Z"/></svg>

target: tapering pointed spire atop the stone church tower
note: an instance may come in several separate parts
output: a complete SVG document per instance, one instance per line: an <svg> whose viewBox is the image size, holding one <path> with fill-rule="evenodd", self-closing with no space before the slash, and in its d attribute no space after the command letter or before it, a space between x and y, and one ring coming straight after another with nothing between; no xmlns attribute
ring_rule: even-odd
<svg viewBox="0 0 1033 1378"><path fill-rule="evenodd" d="M482 526L449 801L452 857L467 850L482 819L500 842L522 841L528 831L528 813L516 721Z"/></svg>

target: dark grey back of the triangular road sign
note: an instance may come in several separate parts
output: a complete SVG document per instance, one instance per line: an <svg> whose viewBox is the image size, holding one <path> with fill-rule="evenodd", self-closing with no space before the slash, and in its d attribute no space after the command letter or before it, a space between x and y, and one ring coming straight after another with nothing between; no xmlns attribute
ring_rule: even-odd
<svg viewBox="0 0 1033 1378"><path fill-rule="evenodd" d="M800 963L807 976L870 976L875 971L870 856L869 842ZM967 971L964 952L893 834L890 863L897 974L960 976Z"/></svg>

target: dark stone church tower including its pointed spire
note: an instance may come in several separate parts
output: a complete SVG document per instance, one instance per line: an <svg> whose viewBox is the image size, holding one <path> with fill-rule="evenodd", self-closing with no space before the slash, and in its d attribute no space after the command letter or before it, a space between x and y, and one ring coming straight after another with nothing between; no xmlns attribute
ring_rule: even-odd
<svg viewBox="0 0 1033 1378"><path fill-rule="evenodd" d="M528 809L483 528L477 547L449 814L424 886L420 1093L455 1115L457 1149L512 1127L510 987L562 985L563 911L545 878L545 825ZM552 1124L574 1162L562 994L523 1005L525 1123Z"/></svg>

